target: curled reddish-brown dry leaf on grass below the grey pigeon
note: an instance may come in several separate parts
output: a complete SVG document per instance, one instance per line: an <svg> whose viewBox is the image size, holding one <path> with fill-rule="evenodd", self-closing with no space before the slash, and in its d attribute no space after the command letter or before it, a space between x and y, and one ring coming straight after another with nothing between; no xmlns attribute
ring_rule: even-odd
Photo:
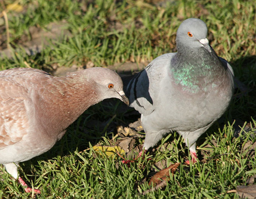
<svg viewBox="0 0 256 199"><path fill-rule="evenodd" d="M160 184L162 181L167 180L167 178L169 177L169 170L171 170L171 173L173 174L174 171L178 168L178 165L180 165L180 162L177 162L175 164L170 165L169 167L160 170L159 172L157 172L149 181L149 185L151 185L152 183L154 185L158 185ZM167 180L168 181L168 180Z"/></svg>

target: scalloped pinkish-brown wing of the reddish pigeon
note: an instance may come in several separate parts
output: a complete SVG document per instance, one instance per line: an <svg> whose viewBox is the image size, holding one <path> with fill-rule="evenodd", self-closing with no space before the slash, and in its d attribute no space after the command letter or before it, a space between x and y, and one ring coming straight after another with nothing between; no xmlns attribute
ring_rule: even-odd
<svg viewBox="0 0 256 199"><path fill-rule="evenodd" d="M0 149L13 145L26 135L28 117L26 88L0 76Z"/></svg>

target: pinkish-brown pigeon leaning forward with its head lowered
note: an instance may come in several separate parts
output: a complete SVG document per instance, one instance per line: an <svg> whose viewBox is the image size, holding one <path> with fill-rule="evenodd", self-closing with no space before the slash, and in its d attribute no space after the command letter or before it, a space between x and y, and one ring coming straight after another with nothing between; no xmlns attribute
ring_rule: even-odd
<svg viewBox="0 0 256 199"><path fill-rule="evenodd" d="M48 151L87 108L107 98L129 104L120 76L110 69L94 67L64 77L38 69L1 71L0 164L27 186L18 163Z"/></svg>

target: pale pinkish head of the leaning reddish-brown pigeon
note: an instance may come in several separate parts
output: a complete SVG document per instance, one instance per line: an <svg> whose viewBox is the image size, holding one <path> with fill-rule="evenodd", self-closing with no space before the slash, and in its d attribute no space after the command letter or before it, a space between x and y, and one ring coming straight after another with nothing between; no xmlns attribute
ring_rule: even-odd
<svg viewBox="0 0 256 199"><path fill-rule="evenodd" d="M87 79L96 84L95 88L102 99L118 98L129 105L129 100L123 91L123 81L115 71L102 67L92 67L84 71Z"/></svg>

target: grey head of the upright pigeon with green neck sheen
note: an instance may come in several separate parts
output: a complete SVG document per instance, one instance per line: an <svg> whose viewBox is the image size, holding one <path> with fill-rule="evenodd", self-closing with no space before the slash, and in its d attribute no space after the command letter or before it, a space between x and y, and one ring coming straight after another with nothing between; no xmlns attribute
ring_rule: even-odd
<svg viewBox="0 0 256 199"><path fill-rule="evenodd" d="M206 48L211 52L209 41L207 40L207 26L197 18L189 18L180 24L176 35L177 49L179 48Z"/></svg>

